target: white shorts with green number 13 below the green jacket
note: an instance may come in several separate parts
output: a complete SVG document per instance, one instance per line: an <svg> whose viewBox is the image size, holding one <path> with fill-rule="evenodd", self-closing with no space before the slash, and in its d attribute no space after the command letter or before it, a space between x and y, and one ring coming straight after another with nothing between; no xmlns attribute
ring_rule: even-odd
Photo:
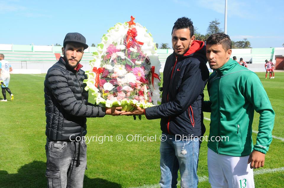
<svg viewBox="0 0 284 188"><path fill-rule="evenodd" d="M220 155L208 148L207 164L212 188L254 188L249 156Z"/></svg>

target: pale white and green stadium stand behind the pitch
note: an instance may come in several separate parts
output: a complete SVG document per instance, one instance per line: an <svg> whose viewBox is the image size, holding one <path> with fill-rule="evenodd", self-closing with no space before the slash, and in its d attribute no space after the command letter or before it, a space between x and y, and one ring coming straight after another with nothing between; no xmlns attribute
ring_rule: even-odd
<svg viewBox="0 0 284 188"><path fill-rule="evenodd" d="M5 59L11 63L14 73L46 73L61 56L61 48L62 46L0 44L0 53L3 53ZM80 62L84 71L91 69L89 61L93 59L92 55L96 50L96 47L89 47L84 50L84 55ZM156 52L162 64L160 69L160 72L162 72L165 61L173 50L157 49ZM265 71L265 59L272 59L275 62L277 57L282 57L283 55L284 48L248 48L233 49L231 57L236 56L237 60L243 58L244 61L250 63L248 64L249 69L255 72L263 72ZM284 61L279 62L276 69L279 67L283 70Z"/></svg>

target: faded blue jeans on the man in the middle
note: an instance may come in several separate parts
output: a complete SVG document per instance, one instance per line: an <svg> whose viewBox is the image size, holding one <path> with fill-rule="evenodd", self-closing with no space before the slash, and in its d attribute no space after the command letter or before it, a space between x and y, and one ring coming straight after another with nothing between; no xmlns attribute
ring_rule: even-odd
<svg viewBox="0 0 284 188"><path fill-rule="evenodd" d="M160 146L161 188L177 187L178 170L180 170L181 177L180 187L196 188L199 139L175 141L175 135L167 133L162 133L162 135L165 135L167 139L161 141Z"/></svg>

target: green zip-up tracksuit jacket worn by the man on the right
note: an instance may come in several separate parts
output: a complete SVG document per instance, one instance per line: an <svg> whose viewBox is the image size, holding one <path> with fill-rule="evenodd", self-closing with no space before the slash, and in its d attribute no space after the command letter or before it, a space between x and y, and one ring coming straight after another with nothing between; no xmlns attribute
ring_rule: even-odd
<svg viewBox="0 0 284 188"><path fill-rule="evenodd" d="M230 156L247 156L253 149L266 154L275 113L258 76L229 59L209 76L207 89L210 101L204 102L203 109L210 112L211 107L208 148ZM260 114L255 145L251 127L254 110Z"/></svg>

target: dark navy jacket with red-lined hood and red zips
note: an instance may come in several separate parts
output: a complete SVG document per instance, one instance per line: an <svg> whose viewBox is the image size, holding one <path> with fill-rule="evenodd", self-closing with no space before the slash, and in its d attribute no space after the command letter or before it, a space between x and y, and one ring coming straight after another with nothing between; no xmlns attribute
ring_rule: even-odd
<svg viewBox="0 0 284 188"><path fill-rule="evenodd" d="M145 109L147 119L161 118L161 130L172 135L201 136L205 132L201 102L209 78L204 42L193 41L182 56L172 53L163 73L162 104Z"/></svg>

